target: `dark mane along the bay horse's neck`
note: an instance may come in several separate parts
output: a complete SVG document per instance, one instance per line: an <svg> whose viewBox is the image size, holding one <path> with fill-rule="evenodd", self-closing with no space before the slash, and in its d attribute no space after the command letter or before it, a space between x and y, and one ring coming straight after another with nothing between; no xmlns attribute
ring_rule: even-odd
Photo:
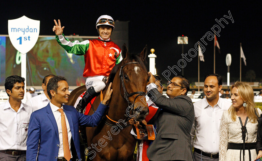
<svg viewBox="0 0 262 161"><path fill-rule="evenodd" d="M119 70L119 68L121 68L122 65L124 65L124 63L128 63L128 62L131 62L131 61L137 61L141 66L142 68L147 71L147 68L146 68L146 60L142 60L140 58L140 54L137 53L137 54L129 54L128 57L125 59L125 60L122 60L119 64L116 64L114 66L114 68L111 70L111 73L109 74L109 78L108 78L108 82L107 82L107 85L111 82L113 82L114 80L114 77L115 75L117 74L116 72ZM118 73L119 74L119 73Z"/></svg>

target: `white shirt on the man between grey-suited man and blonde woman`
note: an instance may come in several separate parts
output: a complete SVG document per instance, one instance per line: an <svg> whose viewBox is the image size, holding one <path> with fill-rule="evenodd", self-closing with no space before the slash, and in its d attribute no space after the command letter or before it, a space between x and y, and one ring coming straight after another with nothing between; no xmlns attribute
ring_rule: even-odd
<svg viewBox="0 0 262 161"><path fill-rule="evenodd" d="M231 104L221 97L214 107L208 104L206 98L194 103L195 120L191 130L191 144L195 148L206 153L219 152L221 116L223 111L228 110Z"/></svg>

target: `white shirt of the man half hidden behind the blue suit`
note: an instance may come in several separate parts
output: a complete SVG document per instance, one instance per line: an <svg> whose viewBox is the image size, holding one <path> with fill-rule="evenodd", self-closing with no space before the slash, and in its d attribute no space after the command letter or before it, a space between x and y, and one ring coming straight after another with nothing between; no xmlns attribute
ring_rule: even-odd
<svg viewBox="0 0 262 161"><path fill-rule="evenodd" d="M35 110L39 110L43 107L46 107L49 102L50 101L46 97L45 93L42 93L27 100L26 104L30 107L33 107Z"/></svg>

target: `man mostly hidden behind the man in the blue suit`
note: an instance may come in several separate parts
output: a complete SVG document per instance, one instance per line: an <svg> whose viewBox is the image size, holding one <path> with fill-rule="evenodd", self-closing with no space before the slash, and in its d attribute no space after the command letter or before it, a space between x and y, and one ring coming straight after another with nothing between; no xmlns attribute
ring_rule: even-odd
<svg viewBox="0 0 262 161"><path fill-rule="evenodd" d="M39 110L43 107L46 107L46 105L50 102L50 98L46 90L47 83L49 79L54 76L55 75L52 75L52 74L45 76L45 78L43 79L43 83L42 83L42 88L44 90L44 93L37 95L36 97L32 97L31 99L28 99L26 102L28 106L33 107L35 110Z"/></svg>

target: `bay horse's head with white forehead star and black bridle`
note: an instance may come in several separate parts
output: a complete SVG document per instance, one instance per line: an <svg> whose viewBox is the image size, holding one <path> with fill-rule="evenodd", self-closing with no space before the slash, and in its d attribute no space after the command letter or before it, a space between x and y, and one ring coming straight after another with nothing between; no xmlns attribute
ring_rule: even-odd
<svg viewBox="0 0 262 161"><path fill-rule="evenodd" d="M129 103L129 110L133 112L131 115L127 110L127 114L134 117L136 121L142 121L149 112L145 98L149 77L144 64L147 56L147 46L140 54L129 54L124 44L121 53L123 57L119 73L122 84L121 95Z"/></svg>

